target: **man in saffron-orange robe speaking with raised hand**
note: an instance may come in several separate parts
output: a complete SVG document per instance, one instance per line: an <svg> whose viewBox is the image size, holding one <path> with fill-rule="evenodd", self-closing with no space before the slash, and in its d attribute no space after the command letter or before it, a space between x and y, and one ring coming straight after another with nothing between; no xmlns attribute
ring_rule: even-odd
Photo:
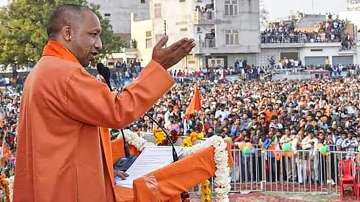
<svg viewBox="0 0 360 202"><path fill-rule="evenodd" d="M58 7L47 32L21 99L14 201L112 202L99 127L122 128L143 115L173 85L166 70L195 44L185 38L163 48L163 37L139 78L114 95L83 68L102 48L89 8Z"/></svg>

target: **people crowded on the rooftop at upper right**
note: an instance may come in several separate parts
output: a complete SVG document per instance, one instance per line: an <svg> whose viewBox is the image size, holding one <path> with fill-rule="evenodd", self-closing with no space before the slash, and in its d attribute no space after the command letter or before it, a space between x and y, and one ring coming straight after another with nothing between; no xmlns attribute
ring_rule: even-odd
<svg viewBox="0 0 360 202"><path fill-rule="evenodd" d="M346 22L329 17L326 21L314 25L316 30L296 28L296 21L270 23L261 33L261 43L321 43L341 42L343 49L354 45L352 37L345 32Z"/></svg>

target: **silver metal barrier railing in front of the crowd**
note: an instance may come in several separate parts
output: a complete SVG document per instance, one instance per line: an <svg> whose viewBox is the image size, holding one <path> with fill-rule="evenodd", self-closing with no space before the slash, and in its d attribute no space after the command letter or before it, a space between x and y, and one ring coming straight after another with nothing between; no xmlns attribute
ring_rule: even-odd
<svg viewBox="0 0 360 202"><path fill-rule="evenodd" d="M233 149L232 155L232 193L339 193L339 162L352 159L354 171L358 164L358 153L344 151L321 154L314 150L282 152L252 149L250 153L243 153L239 149ZM356 174L359 179L360 174ZM199 188L194 188L192 192L198 190Z"/></svg>

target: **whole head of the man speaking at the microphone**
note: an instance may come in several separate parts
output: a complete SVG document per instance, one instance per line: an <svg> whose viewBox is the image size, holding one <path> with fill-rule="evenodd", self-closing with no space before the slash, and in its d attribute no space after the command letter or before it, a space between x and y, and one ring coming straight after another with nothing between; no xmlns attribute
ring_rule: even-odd
<svg viewBox="0 0 360 202"><path fill-rule="evenodd" d="M102 49L101 24L90 8L65 4L55 9L49 18L48 40L68 49L86 67Z"/></svg>

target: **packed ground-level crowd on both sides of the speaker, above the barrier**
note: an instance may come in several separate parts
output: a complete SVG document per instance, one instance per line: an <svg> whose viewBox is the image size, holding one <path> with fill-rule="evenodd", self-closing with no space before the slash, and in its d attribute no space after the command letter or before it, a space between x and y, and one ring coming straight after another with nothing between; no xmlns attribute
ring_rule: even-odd
<svg viewBox="0 0 360 202"><path fill-rule="evenodd" d="M175 78L179 71L172 72ZM360 79L356 77L311 81L210 80L208 74L180 79L147 114L170 134L186 136L202 132L220 135L234 145L290 143L294 150L316 150L318 144L330 151L345 151L353 159L360 142ZM221 78L221 74L216 78ZM181 73L180 73L180 76ZM196 79L195 79L196 78ZM114 82L113 82L114 83ZM200 88L202 109L185 119L194 86ZM121 87L121 86L120 86ZM15 164L16 123L21 89L0 91L0 151L7 147L1 172L11 175ZM157 125L144 116L129 126L135 132L153 132ZM4 156L4 153L1 153Z"/></svg>

